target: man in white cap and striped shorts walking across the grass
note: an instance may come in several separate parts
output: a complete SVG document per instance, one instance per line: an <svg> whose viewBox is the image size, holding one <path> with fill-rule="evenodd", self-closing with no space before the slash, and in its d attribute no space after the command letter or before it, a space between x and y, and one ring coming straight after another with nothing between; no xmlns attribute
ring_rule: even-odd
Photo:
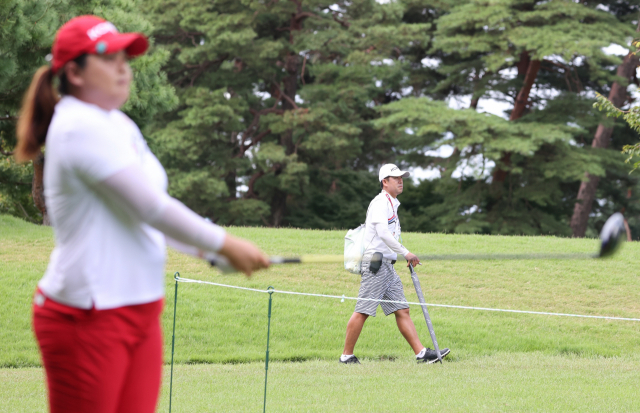
<svg viewBox="0 0 640 413"><path fill-rule="evenodd" d="M410 253L398 241L400 239L400 220L398 219L400 202L397 196L402 193L402 178L410 175L409 172L401 171L393 164L386 164L380 168L378 179L382 191L371 201L367 210L364 233L365 251L361 267L362 281L358 298L407 301L402 289L402 282L393 268L393 264L396 262L397 254L402 254L414 267L420 264L418 257ZM377 265L379 261L373 260L372 262L371 260L376 253L382 254L382 263L379 266ZM347 324L347 335L340 363L360 363L358 358L353 355L353 349L364 322L369 316L375 317L378 305L382 306L385 315L395 314L398 329L415 352L418 362L433 363L438 360L434 350L425 348L420 343L416 327L409 316L408 304L359 300ZM441 349L440 355L444 357L449 354L449 351L448 348Z"/></svg>

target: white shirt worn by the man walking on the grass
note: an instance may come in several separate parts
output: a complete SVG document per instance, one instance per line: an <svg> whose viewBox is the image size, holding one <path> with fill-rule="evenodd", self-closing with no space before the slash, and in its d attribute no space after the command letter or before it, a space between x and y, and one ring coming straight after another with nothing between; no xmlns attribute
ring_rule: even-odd
<svg viewBox="0 0 640 413"><path fill-rule="evenodd" d="M364 233L365 256L381 252L384 258L395 260L398 254L409 253L399 242L401 230L398 218L400 201L382 190L369 204Z"/></svg>

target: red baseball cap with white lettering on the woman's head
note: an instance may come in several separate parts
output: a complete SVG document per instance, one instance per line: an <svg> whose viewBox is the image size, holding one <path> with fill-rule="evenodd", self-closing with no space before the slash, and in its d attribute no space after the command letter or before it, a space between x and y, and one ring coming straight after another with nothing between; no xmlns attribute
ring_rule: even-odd
<svg viewBox="0 0 640 413"><path fill-rule="evenodd" d="M96 16L79 16L66 22L53 41L51 70L56 73L65 63L83 54L110 54L125 50L131 57L149 47L141 33L119 33L116 26Z"/></svg>

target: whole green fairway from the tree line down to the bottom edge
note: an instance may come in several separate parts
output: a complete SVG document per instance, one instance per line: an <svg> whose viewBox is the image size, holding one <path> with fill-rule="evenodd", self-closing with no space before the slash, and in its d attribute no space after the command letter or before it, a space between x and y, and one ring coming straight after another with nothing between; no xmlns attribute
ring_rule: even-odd
<svg viewBox="0 0 640 413"><path fill-rule="evenodd" d="M270 254L340 254L344 231L230 228ZM595 252L596 240L403 234L424 254ZM50 228L0 217L0 411L46 411L30 300L53 248ZM640 318L640 244L611 260L425 262L427 302ZM396 265L409 301L408 271ZM171 354L172 275L224 284L357 295L340 264L274 266L251 279L170 253L163 315ZM132 274L135 276L135 274ZM173 411L260 411L268 295L179 285ZM270 411L640 411L640 322L432 307L443 366L418 366L393 317L365 325L361 366L337 363L354 302L275 294ZM380 314L381 309L378 310ZM412 316L431 345L418 307ZM296 361L296 362L292 362ZM168 369L167 369L168 374ZM160 411L168 410L168 375Z"/></svg>

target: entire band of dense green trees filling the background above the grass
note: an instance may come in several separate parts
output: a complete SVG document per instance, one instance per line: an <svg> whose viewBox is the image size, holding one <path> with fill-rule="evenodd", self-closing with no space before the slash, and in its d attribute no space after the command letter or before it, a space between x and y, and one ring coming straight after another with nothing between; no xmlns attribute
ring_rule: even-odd
<svg viewBox="0 0 640 413"><path fill-rule="evenodd" d="M58 9L79 10L73 2L38 4L28 16L48 16L46 34L0 28L40 42L22 69L0 64L20 73L0 116L16 116L26 74L42 64L64 20ZM593 108L614 82L636 81L616 76L622 58L605 53L636 36L633 2L91 4L87 11L152 35L149 60L134 63L144 75L127 109L167 169L171 194L216 222L353 227L379 191L377 168L395 162L435 177L407 183L407 230L571 235L578 188L594 176L600 184L586 234L623 210L640 236L638 179L620 154L636 135ZM25 44L0 51L18 56ZM0 94L6 84L0 80ZM496 104L503 116L486 113ZM0 118L5 148L11 125ZM613 127L610 142L592 148L603 125ZM28 169L5 170L14 175L0 172L3 199L33 216Z"/></svg>

